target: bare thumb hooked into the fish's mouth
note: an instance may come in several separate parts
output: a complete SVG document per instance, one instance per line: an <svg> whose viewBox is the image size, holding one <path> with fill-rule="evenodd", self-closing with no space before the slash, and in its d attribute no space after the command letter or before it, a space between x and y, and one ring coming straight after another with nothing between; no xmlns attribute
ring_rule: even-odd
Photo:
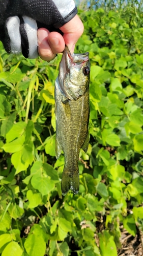
<svg viewBox="0 0 143 256"><path fill-rule="evenodd" d="M60 30L64 33L63 38L65 40L65 44L68 46L72 54L74 52L75 44L84 30L81 19L78 15L75 15L75 17L61 27Z"/></svg>

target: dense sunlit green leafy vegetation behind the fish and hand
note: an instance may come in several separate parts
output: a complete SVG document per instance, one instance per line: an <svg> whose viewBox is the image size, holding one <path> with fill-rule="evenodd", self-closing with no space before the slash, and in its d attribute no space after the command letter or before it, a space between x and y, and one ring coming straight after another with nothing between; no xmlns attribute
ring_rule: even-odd
<svg viewBox="0 0 143 256"><path fill-rule="evenodd" d="M78 195L61 194L52 64L0 45L0 254L142 255L143 14L137 1L80 4L90 52L90 145ZM143 245L143 242L142 242ZM126 248L125 248L126 247Z"/></svg>

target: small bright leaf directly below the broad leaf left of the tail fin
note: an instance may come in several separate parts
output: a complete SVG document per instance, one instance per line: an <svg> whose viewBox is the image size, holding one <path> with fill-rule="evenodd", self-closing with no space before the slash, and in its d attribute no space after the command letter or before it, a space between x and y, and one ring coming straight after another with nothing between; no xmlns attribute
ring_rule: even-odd
<svg viewBox="0 0 143 256"><path fill-rule="evenodd" d="M42 198L41 198L40 193L33 194L32 190L28 190L26 196L27 196L27 199L30 202L28 204L28 208L35 208L42 202Z"/></svg>

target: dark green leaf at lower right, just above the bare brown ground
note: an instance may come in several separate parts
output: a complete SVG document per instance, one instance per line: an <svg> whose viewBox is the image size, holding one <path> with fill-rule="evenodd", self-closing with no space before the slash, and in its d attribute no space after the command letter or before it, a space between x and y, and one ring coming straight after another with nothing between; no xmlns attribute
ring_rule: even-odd
<svg viewBox="0 0 143 256"><path fill-rule="evenodd" d="M133 237L136 235L136 226L135 226L135 221L133 218L133 215L128 215L124 220L123 220L123 225L126 230L132 234Z"/></svg>

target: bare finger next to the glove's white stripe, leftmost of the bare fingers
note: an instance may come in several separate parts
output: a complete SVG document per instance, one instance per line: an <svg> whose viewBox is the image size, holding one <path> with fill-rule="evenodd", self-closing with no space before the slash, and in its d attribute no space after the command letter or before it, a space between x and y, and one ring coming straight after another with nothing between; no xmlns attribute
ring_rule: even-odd
<svg viewBox="0 0 143 256"><path fill-rule="evenodd" d="M48 35L49 31L45 28L38 29L38 52L41 59L49 61L55 57L55 53L52 52L49 43L48 43Z"/></svg>

